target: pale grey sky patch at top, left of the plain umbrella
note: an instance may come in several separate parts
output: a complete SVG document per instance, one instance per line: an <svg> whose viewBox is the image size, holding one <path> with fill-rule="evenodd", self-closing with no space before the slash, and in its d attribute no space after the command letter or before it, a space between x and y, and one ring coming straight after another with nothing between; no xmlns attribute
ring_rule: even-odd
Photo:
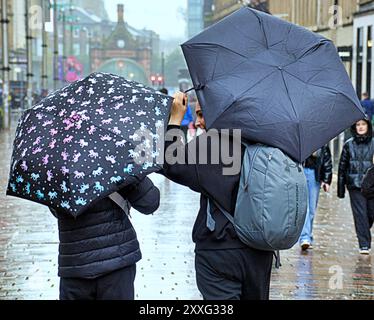
<svg viewBox="0 0 374 320"><path fill-rule="evenodd" d="M187 0L105 0L111 20L117 21L117 4L125 5L125 20L138 29L157 32L162 39L184 38L186 22L180 8L186 9Z"/></svg>

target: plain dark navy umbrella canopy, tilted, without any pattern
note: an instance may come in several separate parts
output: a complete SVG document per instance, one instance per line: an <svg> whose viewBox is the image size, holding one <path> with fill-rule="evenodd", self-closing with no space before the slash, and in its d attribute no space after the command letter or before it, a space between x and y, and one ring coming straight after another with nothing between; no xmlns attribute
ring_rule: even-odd
<svg viewBox="0 0 374 320"><path fill-rule="evenodd" d="M364 117L331 41L242 8L182 45L208 128L302 162Z"/></svg>

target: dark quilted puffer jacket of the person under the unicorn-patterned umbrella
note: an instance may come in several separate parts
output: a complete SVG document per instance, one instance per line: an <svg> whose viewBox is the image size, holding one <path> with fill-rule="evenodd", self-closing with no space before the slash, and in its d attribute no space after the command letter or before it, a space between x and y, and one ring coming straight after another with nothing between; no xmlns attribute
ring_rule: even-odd
<svg viewBox="0 0 374 320"><path fill-rule="evenodd" d="M119 193L144 214L153 213L159 206L159 190L149 178ZM55 215L60 237L60 277L92 279L141 259L128 216L109 198L92 205L77 219L62 213Z"/></svg>

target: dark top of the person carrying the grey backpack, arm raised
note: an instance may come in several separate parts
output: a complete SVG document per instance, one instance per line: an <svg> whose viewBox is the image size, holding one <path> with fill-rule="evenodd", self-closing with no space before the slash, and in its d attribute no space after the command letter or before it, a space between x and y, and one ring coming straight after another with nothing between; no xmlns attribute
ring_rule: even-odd
<svg viewBox="0 0 374 320"><path fill-rule="evenodd" d="M172 140L170 129L173 128L178 129L179 127L169 126L166 140ZM192 231L192 240L196 244L196 250L246 248L247 246L239 240L233 225L214 203L211 203L211 215L216 223L215 230L210 231L207 228L208 197L214 199L231 214L234 213L239 189L240 168L235 175L223 175L222 169L225 165L221 158L217 164L211 164L209 158L207 159L208 164L202 163L199 151L200 146L203 145L203 137L204 135L201 135L186 145L181 142L180 136L179 139L174 139L174 142L166 141L165 150L170 150L169 147L172 144L174 145L173 150L178 150L178 154L177 152L174 153L174 155L177 155L178 163L170 165L168 161L165 161L164 169L161 173L170 180L201 193L200 209ZM219 146L222 139L228 139L228 143L232 148L232 139L228 136L223 137L220 134L207 140L208 150L210 150L212 145ZM244 148L242 146L239 146L239 148L241 150L240 156L243 157ZM195 155L194 150L196 150ZM166 157L167 154L168 152L166 151ZM194 161L188 163L188 160L191 159ZM240 163L242 162L241 159L239 159Z"/></svg>

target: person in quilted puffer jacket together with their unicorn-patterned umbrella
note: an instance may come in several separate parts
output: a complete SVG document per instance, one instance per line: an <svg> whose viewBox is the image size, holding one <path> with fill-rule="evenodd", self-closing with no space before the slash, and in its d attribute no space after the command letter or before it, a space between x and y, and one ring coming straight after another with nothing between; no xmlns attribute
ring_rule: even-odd
<svg viewBox="0 0 374 320"><path fill-rule="evenodd" d="M129 205L145 214L158 207L146 177L162 165L149 146L171 104L143 84L93 73L23 113L7 195L58 218L61 299L133 299L141 255L126 213Z"/></svg>

